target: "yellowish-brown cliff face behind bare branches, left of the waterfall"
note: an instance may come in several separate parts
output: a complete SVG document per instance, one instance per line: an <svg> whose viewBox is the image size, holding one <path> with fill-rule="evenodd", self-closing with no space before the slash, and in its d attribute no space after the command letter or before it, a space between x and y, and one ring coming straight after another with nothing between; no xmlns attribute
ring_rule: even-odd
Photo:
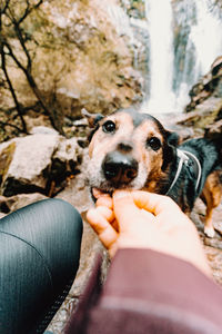
<svg viewBox="0 0 222 334"><path fill-rule="evenodd" d="M14 10L19 10L17 6L14 3ZM139 7L144 8L144 4L134 1L133 7L140 12ZM65 6L60 0L44 1L33 14L29 27L37 41L32 46L33 77L49 109L61 115L61 121L63 116L81 117L82 107L91 112L110 112L142 99L143 79L132 66L132 32L128 32L130 29L119 32L120 14L129 20L117 0L109 3L67 0ZM30 47L28 42L28 49ZM37 98L20 70L10 62L8 67L18 98L27 110L37 104ZM0 95L3 110L14 105L6 85L1 85ZM38 109L36 115L40 112ZM31 124L28 124L28 130Z"/></svg>

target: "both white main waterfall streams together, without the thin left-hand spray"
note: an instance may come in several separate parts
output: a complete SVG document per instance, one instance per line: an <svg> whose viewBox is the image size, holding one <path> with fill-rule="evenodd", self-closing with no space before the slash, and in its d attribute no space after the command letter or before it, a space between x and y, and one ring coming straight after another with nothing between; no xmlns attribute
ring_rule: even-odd
<svg viewBox="0 0 222 334"><path fill-rule="evenodd" d="M147 0L145 4L151 52L145 105L150 111L182 111L191 87L222 55L222 22L209 10L208 0L180 1L178 12L171 0ZM181 30L178 48L175 28Z"/></svg>

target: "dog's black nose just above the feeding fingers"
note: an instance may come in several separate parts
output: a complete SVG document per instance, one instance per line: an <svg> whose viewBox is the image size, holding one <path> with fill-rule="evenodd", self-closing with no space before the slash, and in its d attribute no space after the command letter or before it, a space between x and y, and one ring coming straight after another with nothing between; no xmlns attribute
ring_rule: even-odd
<svg viewBox="0 0 222 334"><path fill-rule="evenodd" d="M102 170L115 186L128 185L138 175L138 161L130 155L112 151L105 156Z"/></svg>

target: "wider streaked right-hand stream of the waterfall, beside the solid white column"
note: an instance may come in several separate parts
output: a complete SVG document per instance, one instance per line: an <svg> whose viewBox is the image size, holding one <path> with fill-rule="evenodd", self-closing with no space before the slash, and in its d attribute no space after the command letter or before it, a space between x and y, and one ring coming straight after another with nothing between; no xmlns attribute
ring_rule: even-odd
<svg viewBox="0 0 222 334"><path fill-rule="evenodd" d="M182 1L174 12L180 27L174 48L175 108L189 102L189 90L222 55L222 22L209 10L208 0ZM180 70L181 69L181 70Z"/></svg>

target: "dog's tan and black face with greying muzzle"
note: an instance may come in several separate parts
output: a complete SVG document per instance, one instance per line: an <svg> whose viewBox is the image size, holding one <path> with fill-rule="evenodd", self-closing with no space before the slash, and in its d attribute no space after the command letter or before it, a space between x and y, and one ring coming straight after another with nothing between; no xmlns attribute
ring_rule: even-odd
<svg viewBox="0 0 222 334"><path fill-rule="evenodd" d="M90 145L88 180L104 193L158 191L174 156L178 137L148 114L131 109L98 117Z"/></svg>

